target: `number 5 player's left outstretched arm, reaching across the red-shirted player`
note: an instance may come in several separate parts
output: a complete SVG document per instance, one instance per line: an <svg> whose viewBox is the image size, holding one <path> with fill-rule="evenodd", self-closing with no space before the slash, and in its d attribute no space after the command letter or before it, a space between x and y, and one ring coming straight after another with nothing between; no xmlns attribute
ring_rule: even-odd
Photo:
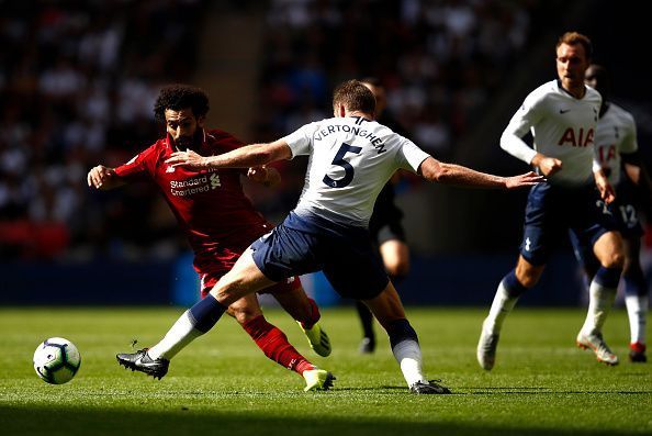
<svg viewBox="0 0 652 436"><path fill-rule="evenodd" d="M292 150L283 139L268 144L251 144L217 156L200 156L193 150L176 152L166 160L172 167L251 168L292 158Z"/></svg>

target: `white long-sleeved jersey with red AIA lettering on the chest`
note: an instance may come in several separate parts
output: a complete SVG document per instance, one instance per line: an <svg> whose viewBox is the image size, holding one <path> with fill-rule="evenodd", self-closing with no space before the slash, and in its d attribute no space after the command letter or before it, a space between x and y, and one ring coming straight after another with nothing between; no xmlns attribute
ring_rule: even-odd
<svg viewBox="0 0 652 436"><path fill-rule="evenodd" d="M580 186L593 180L599 168L594 141L602 96L586 87L582 99L564 90L558 80L543 83L525 99L503 132L501 147L530 164L541 153L562 161L562 169L549 177L553 185ZM533 149L521 137L531 130Z"/></svg>

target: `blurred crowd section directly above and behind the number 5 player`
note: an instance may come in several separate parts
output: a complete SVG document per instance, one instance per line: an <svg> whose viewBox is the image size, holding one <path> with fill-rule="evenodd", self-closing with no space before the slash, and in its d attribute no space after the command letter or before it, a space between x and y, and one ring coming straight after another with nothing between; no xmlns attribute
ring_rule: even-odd
<svg viewBox="0 0 652 436"><path fill-rule="evenodd" d="M330 91L378 78L389 115L421 148L447 160L531 38L539 1L273 0L260 74L257 138L273 139L331 116ZM294 167L301 172L301 166ZM293 168L285 176L292 177ZM295 197L269 201L269 213Z"/></svg>

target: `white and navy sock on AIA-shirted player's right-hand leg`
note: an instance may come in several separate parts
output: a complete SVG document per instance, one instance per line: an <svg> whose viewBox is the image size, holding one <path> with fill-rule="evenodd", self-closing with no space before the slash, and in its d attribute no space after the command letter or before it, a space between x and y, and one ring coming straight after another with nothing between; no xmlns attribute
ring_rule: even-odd
<svg viewBox="0 0 652 436"><path fill-rule="evenodd" d="M589 334L603 331L603 325L616 299L620 272L620 268L600 267L597 270L588 289L588 311L582 332Z"/></svg>

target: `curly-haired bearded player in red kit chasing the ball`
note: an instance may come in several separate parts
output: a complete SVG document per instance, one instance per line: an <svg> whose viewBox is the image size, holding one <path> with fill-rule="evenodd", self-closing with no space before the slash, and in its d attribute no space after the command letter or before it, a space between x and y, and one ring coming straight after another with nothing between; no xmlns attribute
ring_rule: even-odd
<svg viewBox="0 0 652 436"><path fill-rule="evenodd" d="M244 145L226 132L204 130L207 111L209 98L201 89L184 85L164 88L154 112L157 121L166 124L166 138L157 141L124 165L116 168L100 165L88 174L89 187L101 190L136 180L151 180L158 186L194 251L193 264L200 275L202 298L231 270L254 241L273 227L243 192L240 176L265 185L274 185L280 180L276 169L266 167L196 171L167 165L165 160L176 150L193 149L204 155L218 155ZM318 324L317 305L307 298L297 277L266 292L271 293L299 322L318 355L330 354L328 336ZM299 354L283 332L265 320L255 294L236 301L228 311L267 357L304 377L306 390L328 388L324 385L327 372ZM139 351L138 358L146 361L147 353L147 349ZM165 376L167 364L175 354L168 353L165 359L159 359L165 365L153 369L150 374ZM126 367L131 365L121 360L120 355L119 362Z"/></svg>

